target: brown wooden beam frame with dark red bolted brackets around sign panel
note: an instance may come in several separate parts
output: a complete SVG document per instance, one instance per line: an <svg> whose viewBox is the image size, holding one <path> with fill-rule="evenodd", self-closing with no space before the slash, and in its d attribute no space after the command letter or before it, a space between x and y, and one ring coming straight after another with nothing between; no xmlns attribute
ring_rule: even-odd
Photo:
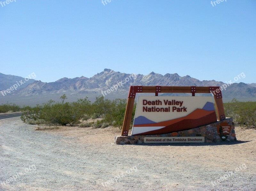
<svg viewBox="0 0 256 191"><path fill-rule="evenodd" d="M155 93L155 96L158 96L158 93L192 93L192 96L195 96L195 93L212 93L218 120L226 118L219 86L130 86L121 136L128 136L136 93Z"/></svg>

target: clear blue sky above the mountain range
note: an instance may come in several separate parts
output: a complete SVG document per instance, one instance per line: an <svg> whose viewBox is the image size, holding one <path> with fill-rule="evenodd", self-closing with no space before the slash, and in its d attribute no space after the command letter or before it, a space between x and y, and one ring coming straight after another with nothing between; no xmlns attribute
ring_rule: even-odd
<svg viewBox="0 0 256 191"><path fill-rule="evenodd" d="M225 82L244 72L238 82L256 83L255 0L16 0L0 5L0 30L4 74L52 82L109 68Z"/></svg>

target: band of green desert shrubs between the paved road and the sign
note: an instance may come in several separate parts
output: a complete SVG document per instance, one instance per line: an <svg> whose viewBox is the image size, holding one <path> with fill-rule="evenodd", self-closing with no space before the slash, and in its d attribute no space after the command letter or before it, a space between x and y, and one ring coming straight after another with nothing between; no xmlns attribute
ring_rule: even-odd
<svg viewBox="0 0 256 191"><path fill-rule="evenodd" d="M110 125L121 128L124 121L124 114L126 108L126 99L104 99L103 96L96 97L94 103L86 97L85 99L78 99L76 102L65 102L67 96L64 94L60 97L61 102L49 100L47 103L37 105L36 107L28 107L22 114L23 122L36 123L37 120L43 120L46 124L54 125L70 125L78 124L81 119L88 120L89 118L98 119L92 123L82 123L79 127L93 127L106 128ZM136 103L132 111L132 122ZM99 118L102 118L99 120ZM40 122L41 124L41 122Z"/></svg>

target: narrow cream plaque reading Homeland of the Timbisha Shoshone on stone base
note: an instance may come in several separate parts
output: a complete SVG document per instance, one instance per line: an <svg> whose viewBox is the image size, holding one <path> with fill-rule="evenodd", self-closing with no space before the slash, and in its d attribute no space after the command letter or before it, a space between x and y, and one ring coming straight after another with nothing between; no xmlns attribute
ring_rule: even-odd
<svg viewBox="0 0 256 191"><path fill-rule="evenodd" d="M204 143L204 137L144 137L144 143Z"/></svg>

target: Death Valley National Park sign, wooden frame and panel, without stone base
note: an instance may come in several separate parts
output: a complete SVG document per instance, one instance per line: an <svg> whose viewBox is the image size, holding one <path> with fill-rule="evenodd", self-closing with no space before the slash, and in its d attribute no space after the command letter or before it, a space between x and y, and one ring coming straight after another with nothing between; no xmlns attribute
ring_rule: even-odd
<svg viewBox="0 0 256 191"><path fill-rule="evenodd" d="M123 137L120 139L125 140L126 138L124 136L131 138L128 136L128 133L132 120L132 111L136 93L155 93L155 96L139 97L132 129L133 139L136 139L139 136L165 134L167 132L173 132L171 133L173 134L171 137L173 137L179 134L177 132L180 132L180 130L191 129L188 130L188 132L191 133L194 132L195 127L212 124L216 122L217 119L219 121L225 120L226 117L220 89L221 88L218 86L130 86L121 133L121 136ZM191 93L192 97L158 97L158 93ZM195 97L196 93L212 93L216 107L217 119L213 109L212 98ZM220 126L221 128L217 128L219 129L219 135L227 138L226 134L227 132L228 134L230 133L230 128L227 124ZM224 131L222 130L223 127L225 128ZM203 130L205 129L202 129L202 131ZM136 137L133 135L139 136ZM213 133L206 134L204 132L192 133L191 137L203 135L204 137L207 136L208 140L206 141L213 139ZM224 140L224 138L222 140Z"/></svg>

